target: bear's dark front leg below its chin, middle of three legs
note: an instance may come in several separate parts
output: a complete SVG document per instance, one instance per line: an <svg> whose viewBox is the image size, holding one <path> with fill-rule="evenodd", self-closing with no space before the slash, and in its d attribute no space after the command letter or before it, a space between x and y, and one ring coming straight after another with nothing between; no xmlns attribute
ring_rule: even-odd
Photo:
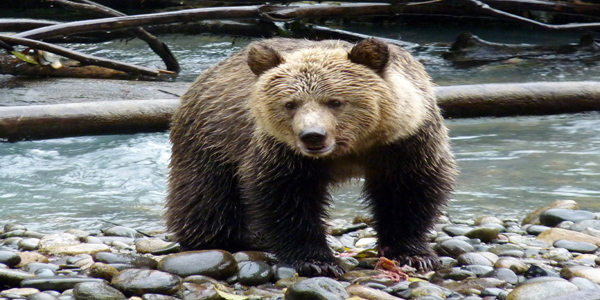
<svg viewBox="0 0 600 300"><path fill-rule="evenodd" d="M344 269L327 244L323 221L330 199L327 170L284 145L272 148L255 151L242 169L252 228L280 262L293 265L301 276L340 276Z"/></svg>

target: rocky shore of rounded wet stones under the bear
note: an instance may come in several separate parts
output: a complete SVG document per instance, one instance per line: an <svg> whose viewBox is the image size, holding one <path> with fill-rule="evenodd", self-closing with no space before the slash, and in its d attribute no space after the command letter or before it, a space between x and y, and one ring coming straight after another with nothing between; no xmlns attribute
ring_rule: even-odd
<svg viewBox="0 0 600 300"><path fill-rule="evenodd" d="M522 221L442 217L430 237L443 267L428 273L382 263L361 221L330 223L330 246L350 270L336 280L298 277L264 252L180 252L164 233L0 224L0 300L600 300L600 213L574 201Z"/></svg>

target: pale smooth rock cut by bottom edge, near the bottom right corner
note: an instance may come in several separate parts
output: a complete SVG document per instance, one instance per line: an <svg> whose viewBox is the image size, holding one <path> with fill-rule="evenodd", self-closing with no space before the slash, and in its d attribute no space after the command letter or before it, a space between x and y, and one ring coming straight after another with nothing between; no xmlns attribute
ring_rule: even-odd
<svg viewBox="0 0 600 300"><path fill-rule="evenodd" d="M517 286L507 300L545 300L578 291L576 285L556 277L536 277Z"/></svg>

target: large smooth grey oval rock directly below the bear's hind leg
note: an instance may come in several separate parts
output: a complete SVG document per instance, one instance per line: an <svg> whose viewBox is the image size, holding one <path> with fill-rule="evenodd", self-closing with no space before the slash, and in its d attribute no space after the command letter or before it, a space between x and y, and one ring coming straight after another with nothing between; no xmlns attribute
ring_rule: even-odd
<svg viewBox="0 0 600 300"><path fill-rule="evenodd" d="M158 263L158 269L181 277L205 275L225 279L236 273L237 263L227 251L201 250L167 255Z"/></svg>

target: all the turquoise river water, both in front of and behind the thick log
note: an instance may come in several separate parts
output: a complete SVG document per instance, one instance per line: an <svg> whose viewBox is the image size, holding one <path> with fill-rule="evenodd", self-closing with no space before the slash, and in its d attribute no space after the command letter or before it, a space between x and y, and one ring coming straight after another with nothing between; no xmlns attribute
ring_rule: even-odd
<svg viewBox="0 0 600 300"><path fill-rule="evenodd" d="M434 26L429 31L384 28L377 33L419 43L411 51L440 85L600 79L598 63L578 61L456 68L439 56L446 46L432 41L450 42L461 29ZM498 41L523 40L506 30L479 35L486 38L486 34ZM567 34L528 36L539 43L576 42L576 36ZM248 43L237 40L232 47L231 39L167 39L184 66L181 81L193 80L201 70ZM161 66L136 41L72 47ZM522 218L558 199L573 199L584 209L600 211L600 114L450 120L447 124L461 169L447 207L451 217ZM18 222L39 231L95 230L109 221L142 230L164 229L161 214L169 156L168 133L0 143L0 224ZM365 212L359 196L360 182L336 191L332 217L351 218Z"/></svg>

